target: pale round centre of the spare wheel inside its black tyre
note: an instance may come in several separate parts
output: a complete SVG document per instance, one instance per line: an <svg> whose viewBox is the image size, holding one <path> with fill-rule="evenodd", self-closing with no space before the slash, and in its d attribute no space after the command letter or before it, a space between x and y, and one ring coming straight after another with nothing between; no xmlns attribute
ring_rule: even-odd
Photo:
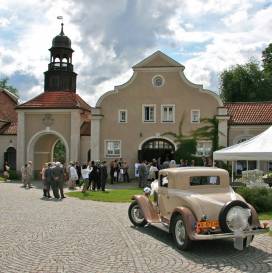
<svg viewBox="0 0 272 273"><path fill-rule="evenodd" d="M226 215L226 224L233 232L243 231L249 225L248 219L250 216L250 209L235 206L228 211Z"/></svg>

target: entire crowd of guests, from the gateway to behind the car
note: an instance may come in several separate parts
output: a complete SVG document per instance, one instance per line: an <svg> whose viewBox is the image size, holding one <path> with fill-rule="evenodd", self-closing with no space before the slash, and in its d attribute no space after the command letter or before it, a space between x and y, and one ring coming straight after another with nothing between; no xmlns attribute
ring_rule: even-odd
<svg viewBox="0 0 272 273"><path fill-rule="evenodd" d="M212 166L210 158L202 158L203 166ZM160 169L175 168L175 167L189 167L196 166L195 160L183 160L179 163L175 160L168 160L167 158L162 163L160 159L153 159L151 162L142 160L140 163L135 164L135 176L138 177L138 186L145 188L150 186L151 182L158 178ZM105 191L105 186L108 179L108 167L110 174L110 183L129 182L129 165L120 159L115 159L107 166L106 161L94 162L90 161L86 164L79 162L70 162L63 165L60 162L45 163L41 170L43 197L51 198L51 190L54 198L63 199L64 184L67 183L69 189L81 188L82 192L87 190ZM6 168L7 170L8 168ZM31 188L31 177L33 174L32 162L29 161L21 169L23 187Z"/></svg>

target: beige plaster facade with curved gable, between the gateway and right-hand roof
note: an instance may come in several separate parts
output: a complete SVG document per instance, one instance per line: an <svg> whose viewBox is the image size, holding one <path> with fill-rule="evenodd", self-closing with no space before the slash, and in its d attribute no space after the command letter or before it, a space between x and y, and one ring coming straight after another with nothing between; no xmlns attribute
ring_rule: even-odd
<svg viewBox="0 0 272 273"><path fill-rule="evenodd" d="M159 65L159 63L157 64ZM152 78L161 75L165 79L162 87L154 87ZM115 92L104 96L98 103L103 118L100 128L100 159L105 157L105 140L121 140L121 157L133 166L138 159L139 145L150 137L159 137L166 132L178 133L178 126L183 117L182 131L185 135L203 126L191 123L191 110L199 109L201 118L212 118L217 114L220 99L205 92L200 86L184 79L180 70L151 70L134 72L132 80ZM143 104L156 105L156 122L142 121ZM161 122L161 105L175 105L175 122ZM128 111L128 122L118 122L118 110ZM92 132L93 133L93 132ZM170 137L171 138L171 137ZM173 140L173 139L172 139Z"/></svg>

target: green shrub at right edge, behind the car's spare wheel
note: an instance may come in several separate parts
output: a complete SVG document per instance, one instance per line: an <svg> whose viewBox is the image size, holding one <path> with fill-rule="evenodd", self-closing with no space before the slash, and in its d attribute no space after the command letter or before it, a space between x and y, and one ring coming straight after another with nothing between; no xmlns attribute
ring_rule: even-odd
<svg viewBox="0 0 272 273"><path fill-rule="evenodd" d="M236 192L242 195L257 212L272 211L272 189L238 187Z"/></svg>

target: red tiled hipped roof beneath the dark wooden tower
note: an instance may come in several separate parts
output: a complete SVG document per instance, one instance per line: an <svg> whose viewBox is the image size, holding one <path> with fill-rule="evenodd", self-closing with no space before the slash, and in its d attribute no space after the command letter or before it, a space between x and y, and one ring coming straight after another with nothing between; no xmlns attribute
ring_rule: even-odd
<svg viewBox="0 0 272 273"><path fill-rule="evenodd" d="M18 105L19 109L83 109L91 111L91 106L78 94L68 91L44 92L37 97Z"/></svg>

